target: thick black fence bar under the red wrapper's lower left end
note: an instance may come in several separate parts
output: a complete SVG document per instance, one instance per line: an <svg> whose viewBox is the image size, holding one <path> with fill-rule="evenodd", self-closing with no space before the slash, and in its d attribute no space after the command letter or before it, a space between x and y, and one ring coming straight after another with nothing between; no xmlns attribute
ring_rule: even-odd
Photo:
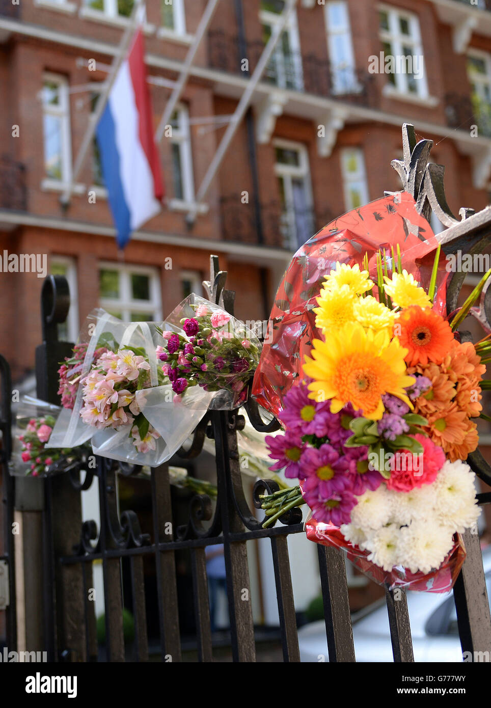
<svg viewBox="0 0 491 708"><path fill-rule="evenodd" d="M344 556L320 544L317 551L329 661L356 661Z"/></svg>

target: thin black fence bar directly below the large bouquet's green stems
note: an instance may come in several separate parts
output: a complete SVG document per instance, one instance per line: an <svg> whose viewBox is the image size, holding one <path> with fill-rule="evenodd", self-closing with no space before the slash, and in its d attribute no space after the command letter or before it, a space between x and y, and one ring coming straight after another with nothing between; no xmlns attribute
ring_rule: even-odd
<svg viewBox="0 0 491 708"><path fill-rule="evenodd" d="M288 539L286 536L271 538L273 566L275 568L276 595L279 626L282 631L284 661L300 661L299 637L296 632L295 600L291 586Z"/></svg>

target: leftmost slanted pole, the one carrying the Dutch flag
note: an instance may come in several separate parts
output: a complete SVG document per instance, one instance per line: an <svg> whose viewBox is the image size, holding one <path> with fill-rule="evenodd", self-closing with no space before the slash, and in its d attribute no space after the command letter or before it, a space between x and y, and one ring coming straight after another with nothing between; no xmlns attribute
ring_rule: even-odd
<svg viewBox="0 0 491 708"><path fill-rule="evenodd" d="M82 169L83 166L83 161L86 158L87 151L89 147L91 147L92 144L92 139L94 137L94 134L96 132L96 127L99 122L100 116L103 115L103 110L105 108L106 103L108 103L108 98L110 91L112 89L112 84L114 84L117 76L117 72L120 69L120 66L122 62L124 61L127 52L129 50L129 43L131 42L133 35L134 35L134 30L137 27L137 24L139 23L139 11L141 7L143 6L144 0L134 0L134 5L132 9L132 13L129 16L129 23L127 24L125 28L125 32L122 35L122 39L120 42L120 46L118 47L117 54L115 55L114 59L112 59L112 64L110 68L110 73L108 75L108 79L105 81L105 89L102 93L100 93L100 96L98 98L97 104L96 104L96 110L94 113L91 114L88 122L88 126L85 132L85 135L83 135L81 146L79 149L79 152L76 156L76 160L74 163L74 169L72 170L71 173L71 178L69 181L69 185L67 186L67 189L64 190L62 195L60 196L59 200L62 202L62 205L66 209L69 206L70 203L70 198L71 198L71 193L74 190L74 185L76 183L76 179L79 176L79 173Z"/></svg>

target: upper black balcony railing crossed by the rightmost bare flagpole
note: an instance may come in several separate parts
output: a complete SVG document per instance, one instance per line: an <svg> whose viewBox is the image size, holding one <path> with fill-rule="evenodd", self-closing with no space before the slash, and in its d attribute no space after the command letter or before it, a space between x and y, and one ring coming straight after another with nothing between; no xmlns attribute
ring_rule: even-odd
<svg viewBox="0 0 491 708"><path fill-rule="evenodd" d="M224 30L214 30L208 35L209 66L222 72L250 76L264 47L261 41L248 42L245 56L242 56L237 37ZM354 67L334 66L313 52L273 53L262 81L281 89L339 98L350 103L376 103L373 74Z"/></svg>

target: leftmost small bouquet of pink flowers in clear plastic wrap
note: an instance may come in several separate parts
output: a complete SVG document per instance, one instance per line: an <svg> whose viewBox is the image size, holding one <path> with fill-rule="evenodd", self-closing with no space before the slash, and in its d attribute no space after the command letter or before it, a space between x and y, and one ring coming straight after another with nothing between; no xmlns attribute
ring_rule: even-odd
<svg viewBox="0 0 491 708"><path fill-rule="evenodd" d="M23 396L16 413L13 451L9 472L15 476L48 476L63 472L73 462L86 461L92 454L88 443L78 447L47 450L54 425L62 408Z"/></svg>

